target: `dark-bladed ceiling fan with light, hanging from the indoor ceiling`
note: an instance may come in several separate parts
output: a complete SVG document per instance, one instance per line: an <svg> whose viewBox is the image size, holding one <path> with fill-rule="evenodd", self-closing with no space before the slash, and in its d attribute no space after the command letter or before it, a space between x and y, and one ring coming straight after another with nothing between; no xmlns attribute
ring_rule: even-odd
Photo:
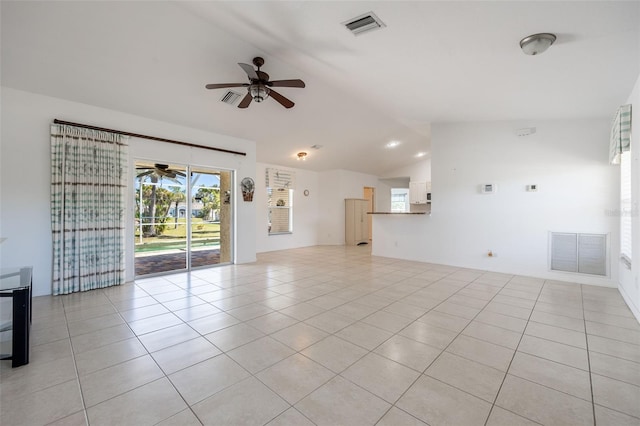
<svg viewBox="0 0 640 426"><path fill-rule="evenodd" d="M249 77L249 83L222 83L222 84L207 84L205 87L207 89L223 89L227 87L246 87L247 94L238 104L238 108L247 108L252 100L256 102L262 102L271 96L273 99L278 101L280 105L285 108L292 108L295 104L286 97L282 96L280 93L273 90L273 87L297 87L303 88L305 87L304 81L302 80L269 80L269 74L266 72L260 71L260 67L264 65L264 59L260 57L253 58L253 65L258 67L257 70L253 69L253 67L249 64L241 64L239 63L240 68L247 73Z"/></svg>

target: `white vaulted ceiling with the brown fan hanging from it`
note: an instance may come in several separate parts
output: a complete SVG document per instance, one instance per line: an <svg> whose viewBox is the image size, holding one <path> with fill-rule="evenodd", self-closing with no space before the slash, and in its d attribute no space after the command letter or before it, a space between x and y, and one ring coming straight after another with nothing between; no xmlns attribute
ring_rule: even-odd
<svg viewBox="0 0 640 426"><path fill-rule="evenodd" d="M258 161L310 170L382 175L419 161L433 122L610 117L640 74L639 2L1 7L2 85L254 140ZM387 27L355 37L341 25L370 11ZM558 40L524 55L519 40L537 32ZM204 88L244 82L236 64L254 56L272 79L306 82L279 90L293 109L267 100L242 110ZM402 144L387 150L390 140Z"/></svg>

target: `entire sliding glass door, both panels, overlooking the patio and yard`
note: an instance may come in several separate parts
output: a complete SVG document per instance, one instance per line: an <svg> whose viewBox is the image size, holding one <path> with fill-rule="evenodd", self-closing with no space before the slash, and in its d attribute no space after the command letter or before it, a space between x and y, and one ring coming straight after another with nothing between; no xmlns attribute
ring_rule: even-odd
<svg viewBox="0 0 640 426"><path fill-rule="evenodd" d="M231 262L232 172L136 162L135 275Z"/></svg>

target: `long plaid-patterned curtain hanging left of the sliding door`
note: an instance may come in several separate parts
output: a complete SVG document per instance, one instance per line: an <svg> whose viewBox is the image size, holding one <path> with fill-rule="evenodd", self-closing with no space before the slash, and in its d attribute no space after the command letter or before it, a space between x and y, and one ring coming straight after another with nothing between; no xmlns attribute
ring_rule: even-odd
<svg viewBox="0 0 640 426"><path fill-rule="evenodd" d="M51 125L54 295L124 283L127 139Z"/></svg>

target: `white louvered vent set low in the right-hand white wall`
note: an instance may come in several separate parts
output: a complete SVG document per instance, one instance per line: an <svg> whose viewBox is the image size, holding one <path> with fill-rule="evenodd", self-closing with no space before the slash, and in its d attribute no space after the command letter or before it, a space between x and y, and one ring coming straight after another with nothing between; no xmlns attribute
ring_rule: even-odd
<svg viewBox="0 0 640 426"><path fill-rule="evenodd" d="M607 276L606 234L549 233L549 266L552 271Z"/></svg>

